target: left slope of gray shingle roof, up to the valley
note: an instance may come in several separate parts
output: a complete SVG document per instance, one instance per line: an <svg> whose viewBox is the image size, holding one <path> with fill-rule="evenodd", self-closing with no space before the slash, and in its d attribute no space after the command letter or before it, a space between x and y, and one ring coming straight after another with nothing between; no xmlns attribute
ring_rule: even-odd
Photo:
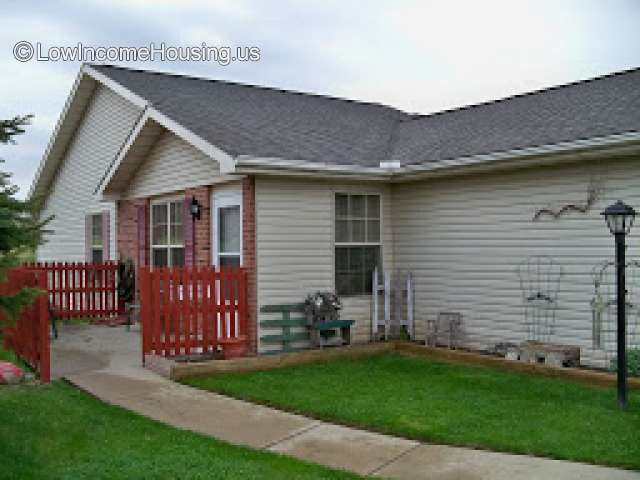
<svg viewBox="0 0 640 480"><path fill-rule="evenodd" d="M391 107L320 95L93 68L231 155L377 166L388 154L395 124L407 116Z"/></svg>

